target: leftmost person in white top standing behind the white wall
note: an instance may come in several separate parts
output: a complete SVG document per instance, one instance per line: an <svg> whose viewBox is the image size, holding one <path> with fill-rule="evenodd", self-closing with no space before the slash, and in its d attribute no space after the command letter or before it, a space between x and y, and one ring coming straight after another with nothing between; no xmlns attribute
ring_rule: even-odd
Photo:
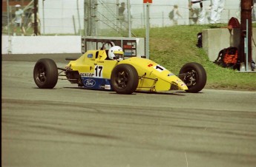
<svg viewBox="0 0 256 167"><path fill-rule="evenodd" d="M22 35L26 34L26 31L24 29L23 23L24 23L24 12L21 9L21 5L20 4L16 4L16 11L15 11L15 20L14 20L14 33L13 35L16 35L17 32L17 28L19 28L20 30L22 30Z"/></svg>

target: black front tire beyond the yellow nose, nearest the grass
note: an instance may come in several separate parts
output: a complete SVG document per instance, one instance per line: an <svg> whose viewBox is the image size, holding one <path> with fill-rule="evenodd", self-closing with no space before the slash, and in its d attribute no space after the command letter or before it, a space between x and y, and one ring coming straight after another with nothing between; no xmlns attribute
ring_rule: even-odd
<svg viewBox="0 0 256 167"><path fill-rule="evenodd" d="M206 69L201 64L191 62L180 69L179 78L186 83L186 92L200 92L206 86Z"/></svg>

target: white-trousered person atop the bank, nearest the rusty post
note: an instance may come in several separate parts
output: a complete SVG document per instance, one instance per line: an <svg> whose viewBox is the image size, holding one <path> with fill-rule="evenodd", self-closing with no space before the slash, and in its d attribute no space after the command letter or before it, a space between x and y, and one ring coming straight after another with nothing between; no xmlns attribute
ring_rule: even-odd
<svg viewBox="0 0 256 167"><path fill-rule="evenodd" d="M224 9L225 0L211 0L210 24L220 23L220 16Z"/></svg>

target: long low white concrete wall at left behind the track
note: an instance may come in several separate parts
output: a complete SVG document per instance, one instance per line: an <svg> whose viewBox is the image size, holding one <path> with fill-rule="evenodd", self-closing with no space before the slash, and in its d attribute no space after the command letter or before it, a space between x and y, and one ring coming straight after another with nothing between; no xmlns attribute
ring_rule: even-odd
<svg viewBox="0 0 256 167"><path fill-rule="evenodd" d="M1 54L81 53L81 36L1 36Z"/></svg>

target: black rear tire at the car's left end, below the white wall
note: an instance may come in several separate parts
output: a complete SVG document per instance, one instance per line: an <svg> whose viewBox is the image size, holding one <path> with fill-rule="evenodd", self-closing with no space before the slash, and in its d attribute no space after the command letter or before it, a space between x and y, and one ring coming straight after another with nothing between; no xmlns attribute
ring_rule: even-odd
<svg viewBox="0 0 256 167"><path fill-rule="evenodd" d="M50 58L42 58L36 62L33 78L40 89L53 89L58 81L58 68Z"/></svg>

